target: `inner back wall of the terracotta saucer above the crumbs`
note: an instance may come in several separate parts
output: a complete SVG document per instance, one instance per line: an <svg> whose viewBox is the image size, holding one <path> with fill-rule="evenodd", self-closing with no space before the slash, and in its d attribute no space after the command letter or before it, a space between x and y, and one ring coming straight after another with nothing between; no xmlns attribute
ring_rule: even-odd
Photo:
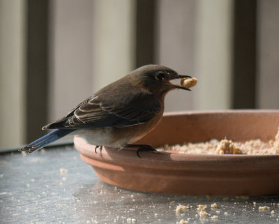
<svg viewBox="0 0 279 224"><path fill-rule="evenodd" d="M164 144L206 142L227 138L235 142L273 140L278 132L279 112L228 111L167 114L158 126L138 144L161 147Z"/></svg>

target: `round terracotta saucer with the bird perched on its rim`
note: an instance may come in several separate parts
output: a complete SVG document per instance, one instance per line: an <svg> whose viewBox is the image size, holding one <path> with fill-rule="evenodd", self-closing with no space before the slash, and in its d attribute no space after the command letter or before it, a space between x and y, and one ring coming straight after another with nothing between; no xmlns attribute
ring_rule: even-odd
<svg viewBox="0 0 279 224"><path fill-rule="evenodd" d="M140 142L204 142L216 138L245 141L274 139L279 110L230 110L165 114ZM75 147L107 184L134 191L181 195L279 195L279 154L208 155L140 152L94 145L75 137Z"/></svg>

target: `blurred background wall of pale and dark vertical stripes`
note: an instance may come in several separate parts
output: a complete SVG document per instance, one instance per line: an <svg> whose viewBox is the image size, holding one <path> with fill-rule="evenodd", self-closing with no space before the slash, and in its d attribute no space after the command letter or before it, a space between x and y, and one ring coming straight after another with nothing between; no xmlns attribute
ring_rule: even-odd
<svg viewBox="0 0 279 224"><path fill-rule="evenodd" d="M144 64L199 82L165 111L278 109L278 0L0 0L0 149Z"/></svg>

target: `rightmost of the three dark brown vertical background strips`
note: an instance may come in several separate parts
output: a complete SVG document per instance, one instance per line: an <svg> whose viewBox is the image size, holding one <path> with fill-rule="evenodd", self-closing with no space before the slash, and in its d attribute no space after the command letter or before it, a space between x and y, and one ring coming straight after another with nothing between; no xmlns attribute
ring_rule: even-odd
<svg viewBox="0 0 279 224"><path fill-rule="evenodd" d="M234 0L234 51L232 67L232 107L255 108L256 87L255 0Z"/></svg>

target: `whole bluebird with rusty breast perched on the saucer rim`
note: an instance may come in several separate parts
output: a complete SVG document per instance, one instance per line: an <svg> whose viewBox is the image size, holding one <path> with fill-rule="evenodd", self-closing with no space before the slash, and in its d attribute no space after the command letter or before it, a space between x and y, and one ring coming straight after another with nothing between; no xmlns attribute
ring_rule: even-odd
<svg viewBox="0 0 279 224"><path fill-rule="evenodd" d="M33 153L65 135L83 137L98 147L131 147L155 150L151 145L133 144L153 130L163 117L164 99L172 89L185 89L171 80L191 78L171 68L147 65L133 70L82 101L65 117L47 124L51 133L31 142L20 151ZM96 151L95 149L95 151Z"/></svg>

